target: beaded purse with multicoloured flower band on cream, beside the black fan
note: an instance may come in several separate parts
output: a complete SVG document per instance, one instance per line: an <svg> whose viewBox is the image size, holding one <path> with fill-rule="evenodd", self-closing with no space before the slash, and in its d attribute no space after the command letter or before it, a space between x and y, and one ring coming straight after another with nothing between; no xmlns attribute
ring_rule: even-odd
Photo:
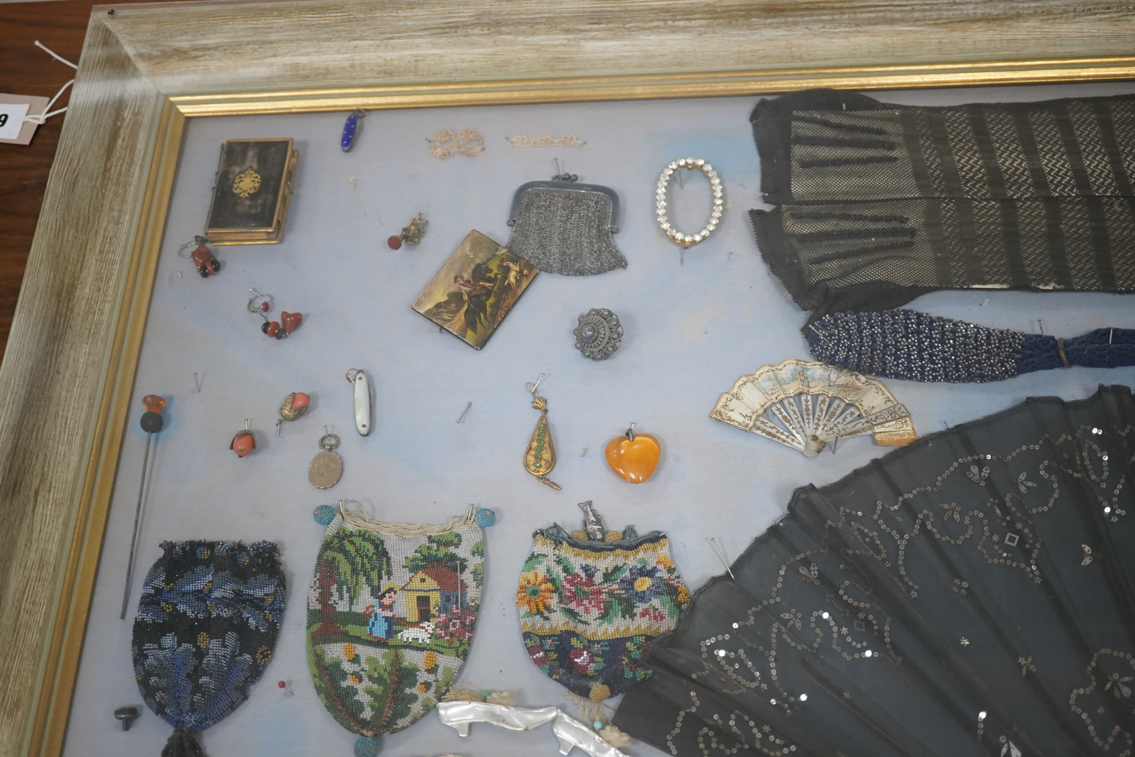
<svg viewBox="0 0 1135 757"><path fill-rule="evenodd" d="M600 539L558 524L537 531L516 588L529 657L596 701L650 675L651 646L674 630L689 600L666 535L638 536L631 525Z"/></svg>

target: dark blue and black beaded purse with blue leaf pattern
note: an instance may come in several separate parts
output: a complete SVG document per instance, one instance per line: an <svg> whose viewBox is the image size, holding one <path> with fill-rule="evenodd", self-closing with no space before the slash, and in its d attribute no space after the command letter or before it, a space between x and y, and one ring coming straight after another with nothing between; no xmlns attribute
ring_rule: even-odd
<svg viewBox="0 0 1135 757"><path fill-rule="evenodd" d="M284 615L275 544L165 541L134 619L134 676L174 726L162 757L202 755L196 734L249 698Z"/></svg>

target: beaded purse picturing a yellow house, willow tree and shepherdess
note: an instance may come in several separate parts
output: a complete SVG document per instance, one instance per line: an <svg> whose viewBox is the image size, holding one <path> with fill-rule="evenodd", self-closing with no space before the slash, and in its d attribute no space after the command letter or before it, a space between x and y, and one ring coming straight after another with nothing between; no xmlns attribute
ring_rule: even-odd
<svg viewBox="0 0 1135 757"><path fill-rule="evenodd" d="M400 731L449 690L469 655L485 577L472 507L444 525L367 520L350 510L327 527L308 594L308 662L316 691L343 727Z"/></svg>

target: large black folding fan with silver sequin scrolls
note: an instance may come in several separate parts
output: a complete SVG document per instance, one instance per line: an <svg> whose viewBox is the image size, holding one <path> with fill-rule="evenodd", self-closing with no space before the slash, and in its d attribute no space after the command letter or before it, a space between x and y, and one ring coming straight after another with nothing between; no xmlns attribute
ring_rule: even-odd
<svg viewBox="0 0 1135 757"><path fill-rule="evenodd" d="M1130 755L1133 453L1111 386L798 489L614 723L676 756Z"/></svg>

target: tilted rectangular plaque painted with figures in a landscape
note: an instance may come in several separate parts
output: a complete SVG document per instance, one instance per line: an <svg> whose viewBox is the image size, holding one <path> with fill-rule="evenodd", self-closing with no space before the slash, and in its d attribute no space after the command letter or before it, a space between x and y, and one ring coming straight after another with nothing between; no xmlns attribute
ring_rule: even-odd
<svg viewBox="0 0 1135 757"><path fill-rule="evenodd" d="M480 350L539 270L477 229L413 304L415 312Z"/></svg>

